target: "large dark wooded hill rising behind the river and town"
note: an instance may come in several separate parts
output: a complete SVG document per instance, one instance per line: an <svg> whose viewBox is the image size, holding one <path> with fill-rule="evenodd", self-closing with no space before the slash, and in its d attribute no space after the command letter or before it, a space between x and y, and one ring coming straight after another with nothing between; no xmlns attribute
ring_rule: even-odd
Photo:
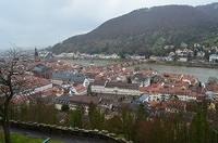
<svg viewBox="0 0 218 143"><path fill-rule="evenodd" d="M218 44L218 3L140 9L51 48L55 53L159 53L166 44Z"/></svg>

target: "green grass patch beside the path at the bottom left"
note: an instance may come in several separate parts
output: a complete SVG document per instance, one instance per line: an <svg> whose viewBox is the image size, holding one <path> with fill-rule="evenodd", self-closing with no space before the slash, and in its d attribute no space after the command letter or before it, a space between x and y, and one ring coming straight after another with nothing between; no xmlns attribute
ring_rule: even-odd
<svg viewBox="0 0 218 143"><path fill-rule="evenodd" d="M26 136L19 133L11 134L12 143L43 143L45 139L36 139L32 136ZM3 143L3 134L0 133L0 143ZM51 140L49 143L62 143L60 141Z"/></svg>

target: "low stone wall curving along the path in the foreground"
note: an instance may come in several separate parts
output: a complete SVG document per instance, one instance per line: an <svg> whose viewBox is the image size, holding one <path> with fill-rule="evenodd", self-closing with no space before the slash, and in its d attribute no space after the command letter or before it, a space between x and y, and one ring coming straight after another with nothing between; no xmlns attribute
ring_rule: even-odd
<svg viewBox="0 0 218 143"><path fill-rule="evenodd" d="M64 135L75 135L82 138L92 138L92 139L99 139L105 141L111 141L114 143L133 143L132 141L126 141L123 138L117 136L114 133L109 133L106 130L85 130L78 128L68 128L62 126L56 125L45 125L45 123L37 123L37 122L22 122L22 121L14 121L11 120L11 127L15 129L23 129L29 131L39 131L46 134L64 134Z"/></svg>

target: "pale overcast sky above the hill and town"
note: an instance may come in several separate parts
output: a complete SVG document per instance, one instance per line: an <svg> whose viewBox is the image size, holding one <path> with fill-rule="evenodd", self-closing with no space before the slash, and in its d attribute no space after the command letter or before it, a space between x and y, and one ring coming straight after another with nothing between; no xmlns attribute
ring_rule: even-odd
<svg viewBox="0 0 218 143"><path fill-rule="evenodd" d="M44 48L135 9L217 0L0 0L0 50Z"/></svg>

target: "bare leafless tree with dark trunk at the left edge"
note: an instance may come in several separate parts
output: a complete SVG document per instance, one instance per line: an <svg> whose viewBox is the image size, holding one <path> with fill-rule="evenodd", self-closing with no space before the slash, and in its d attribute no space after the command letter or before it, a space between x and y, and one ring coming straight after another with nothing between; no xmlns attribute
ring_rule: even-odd
<svg viewBox="0 0 218 143"><path fill-rule="evenodd" d="M9 108L11 100L19 94L23 84L23 67L17 49L11 49L0 63L0 122L3 128L4 142L11 143Z"/></svg>

